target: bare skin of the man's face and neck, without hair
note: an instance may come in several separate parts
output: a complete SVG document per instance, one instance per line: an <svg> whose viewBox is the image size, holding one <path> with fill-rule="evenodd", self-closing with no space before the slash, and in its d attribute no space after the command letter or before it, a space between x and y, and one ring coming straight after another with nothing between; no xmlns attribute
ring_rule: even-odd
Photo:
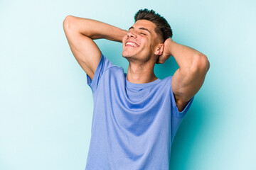
<svg viewBox="0 0 256 170"><path fill-rule="evenodd" d="M139 28L146 28L149 31ZM122 39L122 56L129 61L127 80L132 83L144 84L157 79L154 65L163 51L164 43L160 43L155 28L156 25L151 21L139 20ZM137 42L139 47L126 46L127 40Z"/></svg>

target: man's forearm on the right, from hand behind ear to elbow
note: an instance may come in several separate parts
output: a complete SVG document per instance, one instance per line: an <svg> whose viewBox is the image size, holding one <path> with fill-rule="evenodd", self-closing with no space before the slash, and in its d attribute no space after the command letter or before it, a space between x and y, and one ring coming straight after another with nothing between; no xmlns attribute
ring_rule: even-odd
<svg viewBox="0 0 256 170"><path fill-rule="evenodd" d="M168 48L169 55L175 58L181 70L191 71L191 69L195 70L198 67L203 67L203 69L209 67L206 55L191 47L171 41Z"/></svg>

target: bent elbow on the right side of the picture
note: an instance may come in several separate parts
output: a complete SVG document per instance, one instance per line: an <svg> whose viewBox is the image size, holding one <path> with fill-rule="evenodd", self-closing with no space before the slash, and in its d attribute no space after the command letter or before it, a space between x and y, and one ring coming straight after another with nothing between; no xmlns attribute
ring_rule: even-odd
<svg viewBox="0 0 256 170"><path fill-rule="evenodd" d="M210 69L210 62L206 55L197 54L193 58L193 63L191 65L191 72L203 72L206 74Z"/></svg>

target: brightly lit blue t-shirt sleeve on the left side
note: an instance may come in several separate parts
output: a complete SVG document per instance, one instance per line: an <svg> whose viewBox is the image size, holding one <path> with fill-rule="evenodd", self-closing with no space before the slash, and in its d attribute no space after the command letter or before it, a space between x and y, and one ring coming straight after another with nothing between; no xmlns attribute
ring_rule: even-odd
<svg viewBox="0 0 256 170"><path fill-rule="evenodd" d="M97 65L97 69L95 71L95 74L93 76L93 78L91 79L87 74L87 84L88 86L90 86L90 88L92 89L92 93L94 93L97 89L98 84L100 84L100 79L102 77L102 75L104 74L105 70L114 66L114 64L112 64L112 62L110 62L110 60L108 60L105 55L101 55L100 57L100 62Z"/></svg>

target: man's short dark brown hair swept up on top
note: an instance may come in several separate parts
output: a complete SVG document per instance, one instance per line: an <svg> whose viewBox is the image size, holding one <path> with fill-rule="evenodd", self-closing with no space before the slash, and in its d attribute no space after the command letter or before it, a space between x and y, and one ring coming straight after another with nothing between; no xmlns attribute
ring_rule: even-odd
<svg viewBox="0 0 256 170"><path fill-rule="evenodd" d="M156 24L156 33L159 34L164 41L168 38L172 38L172 30L169 23L166 21L166 19L159 15L159 13L156 13L152 9L149 11L149 9L144 8L137 11L137 13L134 16L135 22L138 20L148 20L152 23Z"/></svg>

